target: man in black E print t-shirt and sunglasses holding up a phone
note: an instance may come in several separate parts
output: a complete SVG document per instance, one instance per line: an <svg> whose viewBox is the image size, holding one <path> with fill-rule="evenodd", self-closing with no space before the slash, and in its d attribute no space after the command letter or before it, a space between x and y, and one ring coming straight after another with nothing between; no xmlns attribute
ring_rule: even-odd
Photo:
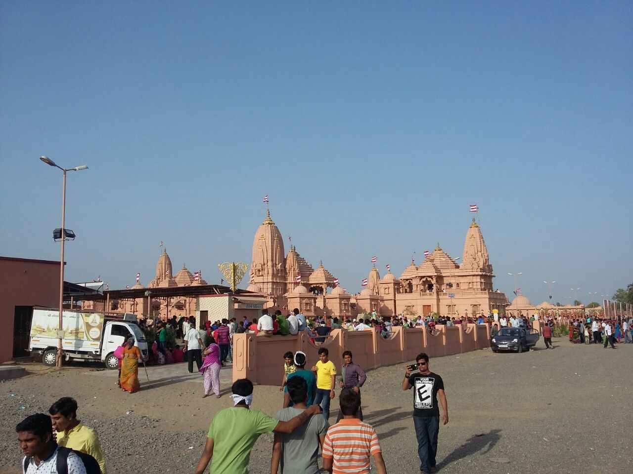
<svg viewBox="0 0 633 474"><path fill-rule="evenodd" d="M448 403L444 393L444 380L429 370L429 356L418 354L415 362L420 372L411 374L406 367L402 389L413 388L413 426L418 439L420 473L432 473L436 469L437 433L439 432L439 408L442 404L442 423L448 423Z"/></svg>

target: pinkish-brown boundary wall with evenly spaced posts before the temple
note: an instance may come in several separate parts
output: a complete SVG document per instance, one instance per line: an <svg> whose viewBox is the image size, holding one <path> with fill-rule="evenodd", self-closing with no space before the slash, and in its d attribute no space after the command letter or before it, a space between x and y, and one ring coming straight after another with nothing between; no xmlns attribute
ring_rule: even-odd
<svg viewBox="0 0 633 474"><path fill-rule="evenodd" d="M318 361L318 349L327 348L329 358L341 374L343 351L351 351L354 362L364 369L383 367L415 360L420 352L430 357L460 354L490 347L490 326L461 324L453 327L436 325L429 334L426 327L393 328L390 337L380 336L377 328L365 331L334 329L323 344L316 346L305 332L296 336L260 336L253 333L233 336L233 380L249 379L254 384L281 386L284 353L303 351L310 370Z"/></svg>

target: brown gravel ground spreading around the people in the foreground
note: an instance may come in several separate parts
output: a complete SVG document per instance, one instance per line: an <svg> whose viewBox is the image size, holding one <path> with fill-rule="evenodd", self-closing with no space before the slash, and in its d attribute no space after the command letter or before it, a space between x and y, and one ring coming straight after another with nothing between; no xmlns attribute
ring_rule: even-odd
<svg viewBox="0 0 633 474"><path fill-rule="evenodd" d="M440 428L438 468L446 473L624 473L631 471L630 362L633 344L617 349L573 346L494 354L489 349L432 359L442 375L450 422ZM281 365L281 364L280 364ZM0 473L18 473L22 454L15 425L74 396L79 418L96 428L108 472L192 472L213 414L230 397L201 398L201 380L185 365L149 368L150 384L137 394L115 386L116 373L85 365L61 372L25 365L30 375L0 384ZM94 366L97 367L97 366ZM163 371L163 372L160 372ZM377 430L390 473L417 473L411 392L401 391L403 367L368 372L365 420ZM180 374L180 375L179 375ZM229 373L227 372L226 375ZM230 391L224 375L222 393ZM253 408L279 410L278 387L258 386ZM129 412L129 413L128 413ZM332 410L332 422L337 415ZM272 435L251 454L251 474L268 473Z"/></svg>

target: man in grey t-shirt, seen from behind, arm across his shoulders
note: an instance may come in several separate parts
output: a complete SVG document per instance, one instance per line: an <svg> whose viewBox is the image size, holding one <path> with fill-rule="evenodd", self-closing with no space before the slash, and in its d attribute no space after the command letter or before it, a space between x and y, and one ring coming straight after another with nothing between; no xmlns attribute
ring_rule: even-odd
<svg viewBox="0 0 633 474"><path fill-rule="evenodd" d="M294 406L277 411L277 420L284 422L306 410L308 384L301 377L291 377L286 384ZM323 416L312 416L292 433L275 433L271 474L277 474L281 461L282 474L318 474L318 448L323 446L328 423Z"/></svg>

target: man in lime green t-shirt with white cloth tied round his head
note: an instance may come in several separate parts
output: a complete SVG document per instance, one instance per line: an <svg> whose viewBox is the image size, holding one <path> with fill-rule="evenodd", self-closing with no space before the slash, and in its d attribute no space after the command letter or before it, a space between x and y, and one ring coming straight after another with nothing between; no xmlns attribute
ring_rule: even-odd
<svg viewBox="0 0 633 474"><path fill-rule="evenodd" d="M232 387L233 408L218 411L211 420L204 451L196 468L203 474L211 461L213 474L248 474L251 449L261 434L291 433L310 416L321 413L319 405L310 406L287 422L280 422L259 410L250 410L253 403L253 382L236 380Z"/></svg>

